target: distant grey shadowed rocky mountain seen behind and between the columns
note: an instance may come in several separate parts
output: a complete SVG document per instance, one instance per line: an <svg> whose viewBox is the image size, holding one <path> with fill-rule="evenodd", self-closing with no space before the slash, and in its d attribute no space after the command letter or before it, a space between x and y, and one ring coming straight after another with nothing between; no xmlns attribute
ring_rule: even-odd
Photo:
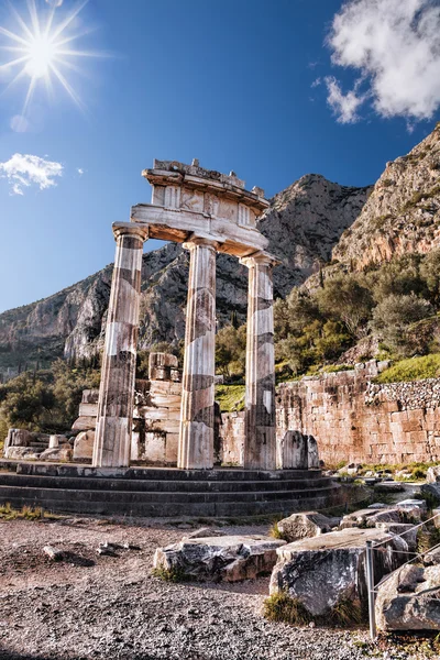
<svg viewBox="0 0 440 660"><path fill-rule="evenodd" d="M274 272L275 294L285 296L330 258L331 249L364 206L370 188L350 188L306 175L276 195L260 220L270 251L282 265ZM169 243L144 254L140 346L174 342L185 333L188 254ZM90 358L102 344L112 266L44 300L0 315L0 373L15 373L59 355ZM219 326L237 311L245 320L248 270L229 255L218 256Z"/></svg>

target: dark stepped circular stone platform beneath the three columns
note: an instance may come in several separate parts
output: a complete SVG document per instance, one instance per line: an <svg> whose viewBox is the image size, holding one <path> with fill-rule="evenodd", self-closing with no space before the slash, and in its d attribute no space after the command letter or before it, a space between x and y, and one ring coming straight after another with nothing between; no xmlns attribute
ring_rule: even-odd
<svg viewBox="0 0 440 660"><path fill-rule="evenodd" d="M320 470L90 468L0 461L0 504L59 513L240 517L340 504Z"/></svg>

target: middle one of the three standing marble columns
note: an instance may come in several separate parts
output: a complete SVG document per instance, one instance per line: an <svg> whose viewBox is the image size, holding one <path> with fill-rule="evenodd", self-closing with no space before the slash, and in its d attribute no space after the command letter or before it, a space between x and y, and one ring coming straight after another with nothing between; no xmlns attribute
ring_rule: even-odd
<svg viewBox="0 0 440 660"><path fill-rule="evenodd" d="M190 252L190 265L177 465L209 470L213 466L218 243L194 238L184 248Z"/></svg>

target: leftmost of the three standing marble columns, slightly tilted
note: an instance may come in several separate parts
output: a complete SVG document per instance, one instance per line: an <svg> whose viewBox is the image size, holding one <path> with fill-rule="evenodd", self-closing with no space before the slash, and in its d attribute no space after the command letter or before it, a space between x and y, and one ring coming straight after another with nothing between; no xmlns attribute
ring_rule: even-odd
<svg viewBox="0 0 440 660"><path fill-rule="evenodd" d="M145 224L117 222L113 277L102 354L92 464L128 468L133 425L134 380Z"/></svg>

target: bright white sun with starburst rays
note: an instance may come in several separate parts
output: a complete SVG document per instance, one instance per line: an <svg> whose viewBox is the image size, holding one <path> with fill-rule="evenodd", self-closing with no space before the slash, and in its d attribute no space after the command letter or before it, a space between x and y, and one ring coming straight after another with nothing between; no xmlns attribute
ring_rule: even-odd
<svg viewBox="0 0 440 660"><path fill-rule="evenodd" d="M63 13L56 22L55 12L61 2L51 2L51 9L38 10L36 0L28 0L29 18L25 20L11 4L15 28L0 25L0 51L10 54L10 58L0 61L0 72L12 73L8 88L28 78L23 114L28 109L37 85L43 84L48 92L53 91L56 81L81 109L84 102L68 80L68 73L84 73L78 61L85 57L102 57L102 53L75 48L77 42L90 30L80 33L74 31L79 12L87 4L85 0L74 7L69 13ZM38 6L40 7L40 6ZM18 28L18 30L16 30ZM3 58L2 58L3 59Z"/></svg>

